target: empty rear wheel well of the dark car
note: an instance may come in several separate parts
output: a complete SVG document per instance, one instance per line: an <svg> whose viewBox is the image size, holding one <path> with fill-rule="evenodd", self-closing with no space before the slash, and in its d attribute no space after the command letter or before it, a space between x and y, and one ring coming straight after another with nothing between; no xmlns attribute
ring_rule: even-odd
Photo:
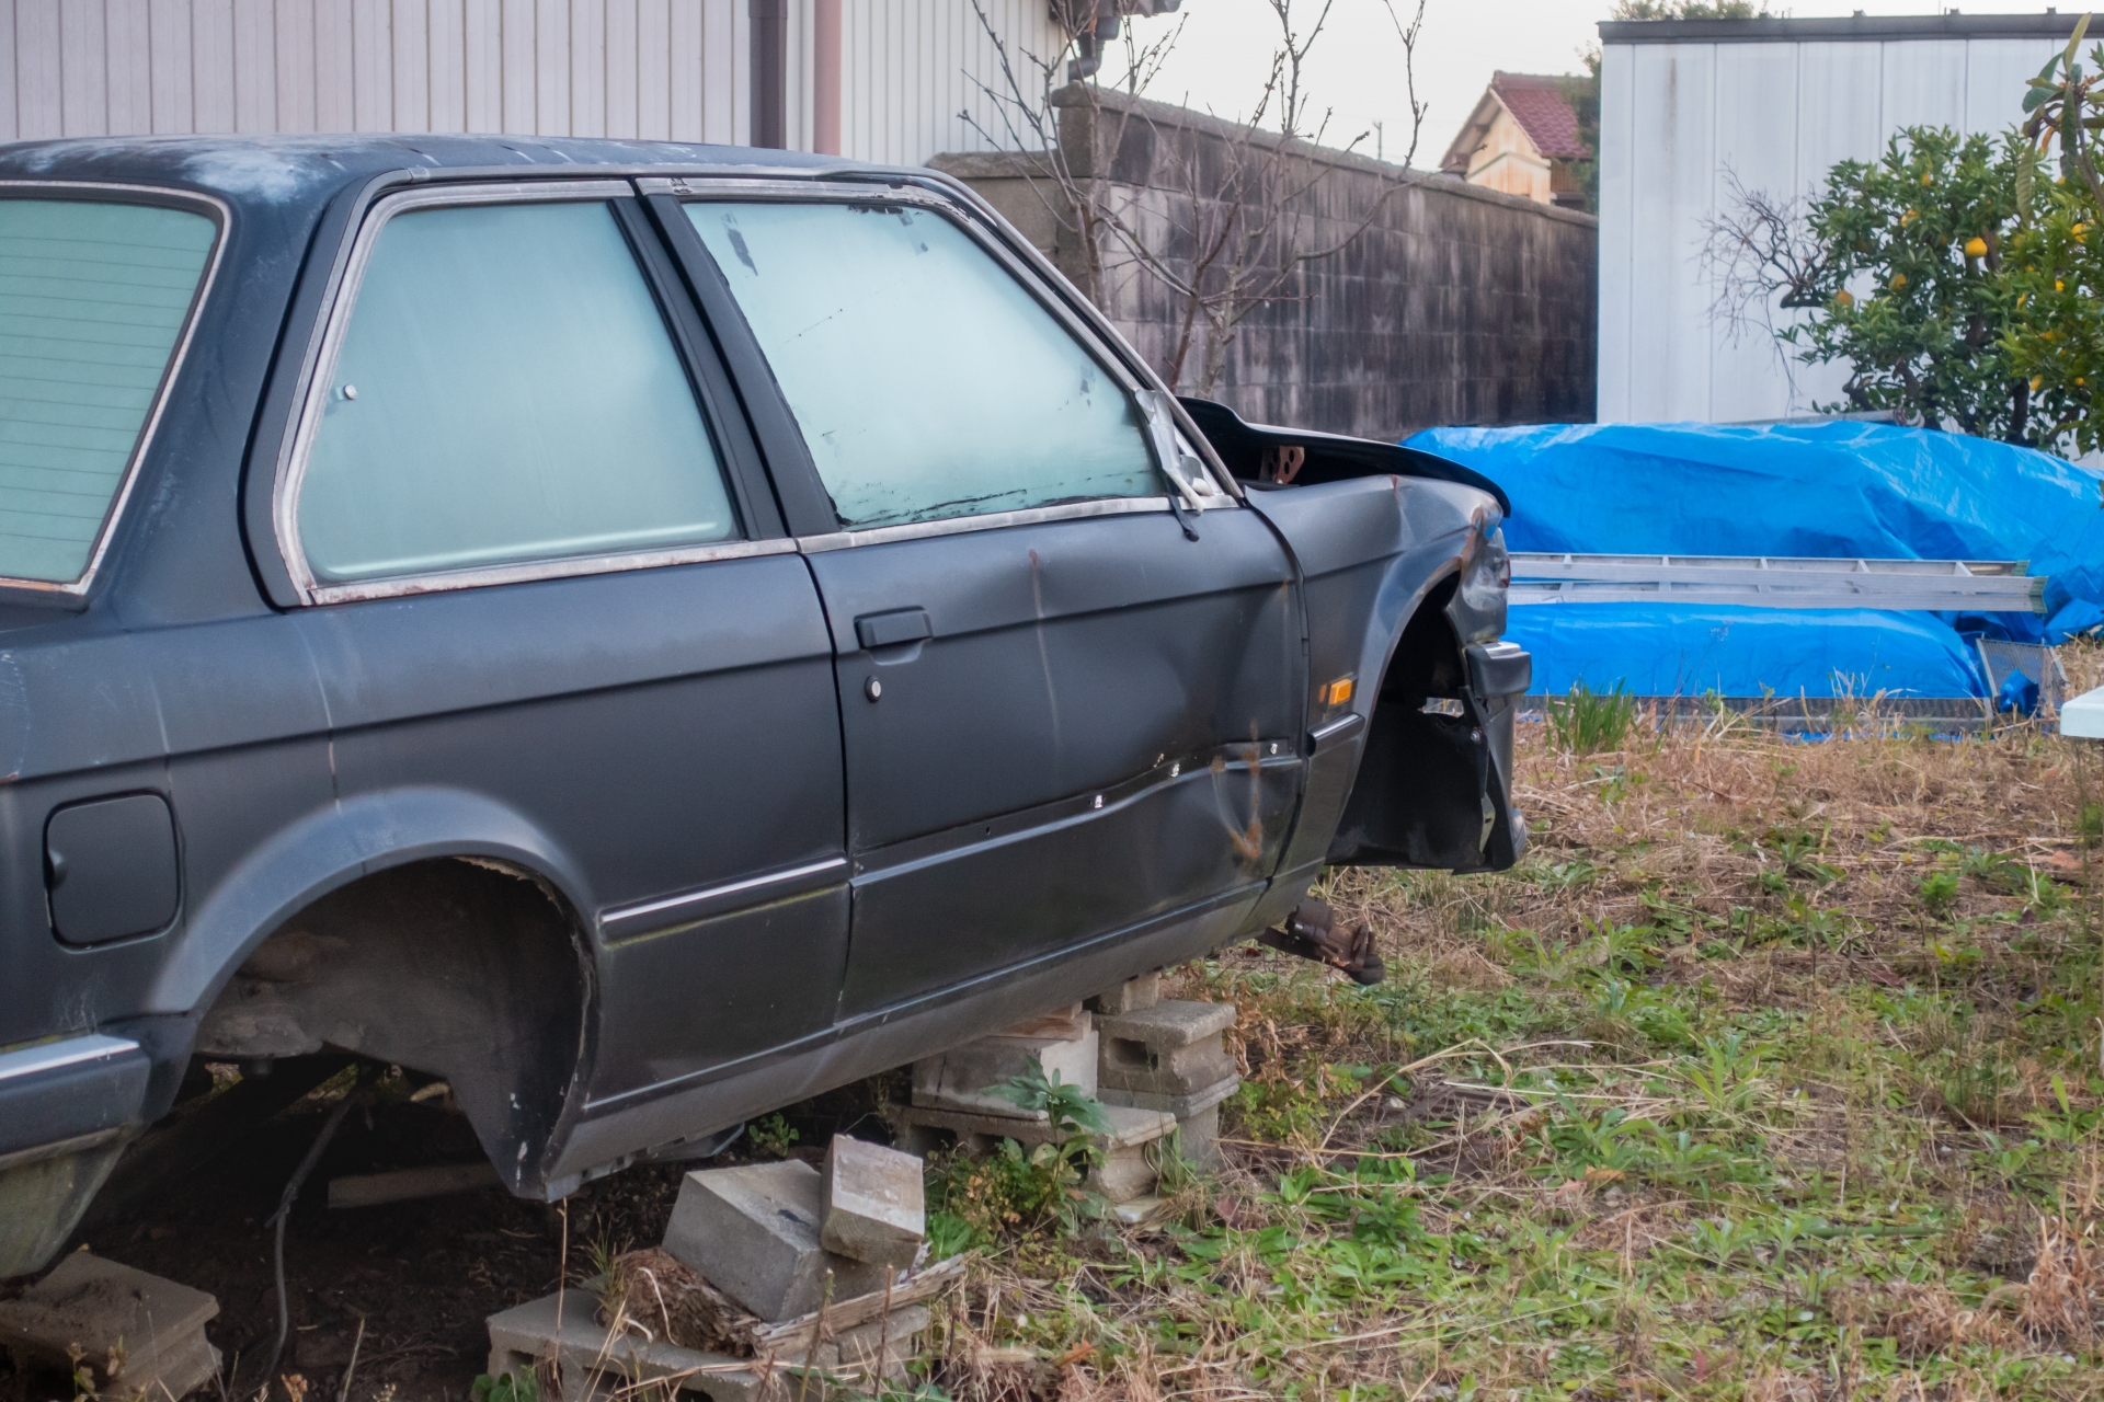
<svg viewBox="0 0 2104 1402"><path fill-rule="evenodd" d="M534 1194L591 1036L576 921L530 872L412 862L330 891L259 944L196 1053L349 1051L444 1076L513 1192Z"/></svg>

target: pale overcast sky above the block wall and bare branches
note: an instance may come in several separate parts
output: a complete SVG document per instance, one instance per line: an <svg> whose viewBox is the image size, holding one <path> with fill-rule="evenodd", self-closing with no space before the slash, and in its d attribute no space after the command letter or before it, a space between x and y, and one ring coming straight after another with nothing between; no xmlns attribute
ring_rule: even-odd
<svg viewBox="0 0 2104 1402"><path fill-rule="evenodd" d="M1408 21L1416 0L1393 0ZM1424 32L1418 38L1418 101L1429 101L1418 139L1418 166L1437 166L1448 143L1469 118L1496 69L1511 74L1584 71L1580 50L1599 38L1597 23L1612 0L1427 0ZM1778 6L1782 8L1782 6ZM1961 8L1967 15L2045 11L2039 0L1963 0L1957 6L1923 0L1797 0L1791 15L1936 15ZM2075 6L2062 4L2062 11ZM1294 0L1304 25L1321 11L1321 0ZM1140 38L1164 34L1182 19L1182 38L1155 84L1147 90L1170 103L1185 103L1222 118L1246 114L1265 84L1279 25L1269 0L1185 0L1180 15L1132 21ZM2072 15L2070 15L2072 19ZM1113 76L1105 63L1105 78ZM1403 97L1403 46L1382 0L1332 0L1330 23L1309 57L1313 116L1332 109L1330 145L1347 145L1368 132L1363 149L1378 143L1389 160L1410 147L1410 103Z"/></svg>

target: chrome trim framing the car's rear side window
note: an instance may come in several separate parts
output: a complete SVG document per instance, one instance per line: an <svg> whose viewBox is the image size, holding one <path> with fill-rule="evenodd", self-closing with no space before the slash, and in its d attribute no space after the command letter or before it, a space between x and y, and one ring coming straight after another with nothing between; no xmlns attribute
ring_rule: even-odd
<svg viewBox="0 0 2104 1402"><path fill-rule="evenodd" d="M564 202L606 202L629 200L635 187L619 179L585 181L509 181L492 185L412 185L381 195L366 210L351 240L349 256L337 273L337 286L328 290L328 305L322 313L322 334L301 370L299 418L286 435L286 448L271 483L271 530L278 536L278 553L292 576L292 591L301 603L351 603L360 599L396 599L404 595L444 593L452 589L484 589L490 584L522 584L530 580L558 580L583 574L616 574L623 570L654 570L661 565L690 565L711 559L745 559L751 555L787 555L795 551L791 540L705 540L692 547L659 551L619 551L612 555L568 555L555 559L526 559L511 565L486 565L478 570L444 570L429 574L404 574L385 580L356 580L326 584L307 565L307 553L299 542L299 492L307 477L307 458L313 437L322 425L322 410L328 401L328 380L343 353L343 336L349 332L351 313L358 307L358 288L364 282L366 265L381 229L402 212L463 206L463 204L564 204ZM638 275L642 269L638 267ZM699 406L696 406L699 408Z"/></svg>

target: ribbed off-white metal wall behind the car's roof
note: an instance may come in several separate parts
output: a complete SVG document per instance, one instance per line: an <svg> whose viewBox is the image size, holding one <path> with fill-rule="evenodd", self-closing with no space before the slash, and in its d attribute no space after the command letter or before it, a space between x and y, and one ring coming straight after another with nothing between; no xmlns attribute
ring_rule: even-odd
<svg viewBox="0 0 2104 1402"><path fill-rule="evenodd" d="M1023 71L1044 0L980 0ZM846 156L985 149L999 86L972 0L846 0ZM747 0L0 0L0 141L478 130L741 143ZM789 141L810 147L810 0L789 11ZM968 69L968 71L966 71ZM991 111L987 126L999 130Z"/></svg>

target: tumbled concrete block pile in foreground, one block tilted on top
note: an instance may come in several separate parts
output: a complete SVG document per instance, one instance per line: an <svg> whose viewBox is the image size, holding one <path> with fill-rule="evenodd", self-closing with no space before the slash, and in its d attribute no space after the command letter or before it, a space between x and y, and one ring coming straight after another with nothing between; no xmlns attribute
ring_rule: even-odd
<svg viewBox="0 0 2104 1402"><path fill-rule="evenodd" d="M490 1318L490 1375L553 1358L562 1402L625 1396L625 1383L644 1379L675 1379L713 1402L785 1402L806 1366L896 1381L928 1328L928 1307L873 1305L919 1259L926 1234L922 1160L846 1135L827 1148L823 1171L793 1158L694 1171L680 1183L665 1251L757 1316L764 1335L766 1324L797 1322L778 1366L608 1339L591 1301L576 1295L568 1316L576 1324L558 1328L551 1295ZM829 1316L861 1322L831 1328Z"/></svg>

